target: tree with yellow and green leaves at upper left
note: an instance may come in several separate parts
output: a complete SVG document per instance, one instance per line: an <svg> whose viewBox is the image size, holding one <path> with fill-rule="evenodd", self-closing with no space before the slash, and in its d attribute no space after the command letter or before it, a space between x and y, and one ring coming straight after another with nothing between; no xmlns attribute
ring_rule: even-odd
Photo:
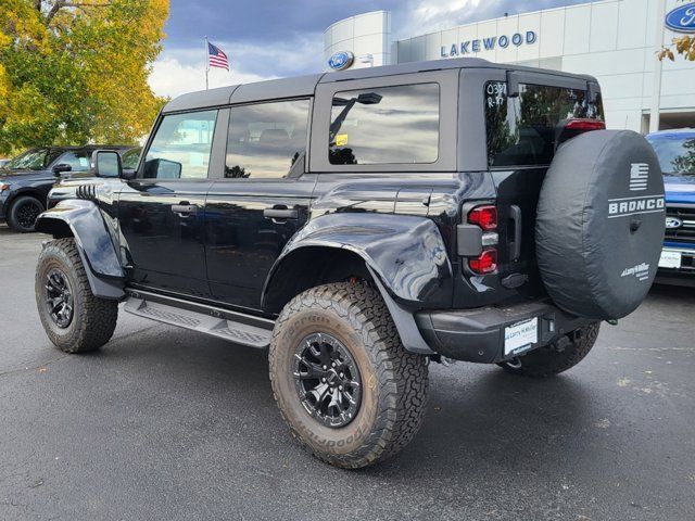
<svg viewBox="0 0 695 521"><path fill-rule="evenodd" d="M167 15L168 0L0 0L0 152L147 134Z"/></svg>

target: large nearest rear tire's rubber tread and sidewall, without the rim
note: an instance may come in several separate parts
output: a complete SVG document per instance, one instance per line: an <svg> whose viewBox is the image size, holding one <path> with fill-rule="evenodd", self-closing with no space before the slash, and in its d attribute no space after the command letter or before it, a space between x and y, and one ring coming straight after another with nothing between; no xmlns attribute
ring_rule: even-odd
<svg viewBox="0 0 695 521"><path fill-rule="evenodd" d="M361 407L344 427L325 427L309 416L294 385L294 350L316 332L339 339L362 376ZM346 469L382 461L420 428L427 359L405 351L381 295L365 283L326 284L295 296L275 325L269 361L273 394L292 436L323 461Z"/></svg>

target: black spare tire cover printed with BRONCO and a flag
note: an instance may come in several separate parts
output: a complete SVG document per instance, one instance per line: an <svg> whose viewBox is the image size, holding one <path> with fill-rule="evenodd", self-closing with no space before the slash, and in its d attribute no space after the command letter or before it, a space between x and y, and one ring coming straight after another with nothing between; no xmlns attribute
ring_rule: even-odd
<svg viewBox="0 0 695 521"><path fill-rule="evenodd" d="M541 189L535 243L555 304L602 320L644 300L659 262L666 208L652 145L631 130L594 130L561 144Z"/></svg>

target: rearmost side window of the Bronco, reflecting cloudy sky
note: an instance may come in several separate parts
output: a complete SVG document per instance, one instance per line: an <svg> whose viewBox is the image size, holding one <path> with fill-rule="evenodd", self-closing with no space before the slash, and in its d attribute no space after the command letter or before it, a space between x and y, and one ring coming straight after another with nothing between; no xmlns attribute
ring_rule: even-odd
<svg viewBox="0 0 695 521"><path fill-rule="evenodd" d="M329 131L333 165L434 163L439 156L439 85L337 92Z"/></svg>

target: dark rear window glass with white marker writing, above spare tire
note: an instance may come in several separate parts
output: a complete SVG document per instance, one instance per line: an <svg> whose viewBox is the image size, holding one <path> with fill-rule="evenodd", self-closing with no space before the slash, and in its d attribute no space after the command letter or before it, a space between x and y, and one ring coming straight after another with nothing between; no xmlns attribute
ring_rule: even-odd
<svg viewBox="0 0 695 521"><path fill-rule="evenodd" d="M505 81L485 84L485 126L490 166L548 165L555 153L555 131L563 119L603 119L601 99L589 103L579 89L519 84L519 96L507 97Z"/></svg>

